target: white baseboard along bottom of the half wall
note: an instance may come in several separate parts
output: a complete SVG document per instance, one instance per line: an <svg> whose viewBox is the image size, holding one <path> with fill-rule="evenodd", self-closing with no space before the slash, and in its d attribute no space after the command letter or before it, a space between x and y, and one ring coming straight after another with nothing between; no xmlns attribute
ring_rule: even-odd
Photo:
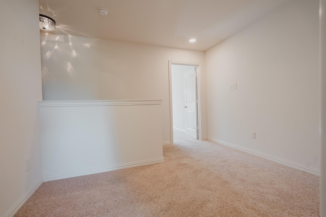
<svg viewBox="0 0 326 217"><path fill-rule="evenodd" d="M44 181L53 181L53 180L58 180L58 179L63 179L63 178L71 178L71 177L82 176L82 175L91 175L91 174L95 174L95 173L103 173L103 172L108 172L108 171L113 171L113 170L120 170L120 169L126 169L126 168L130 168L130 167L138 167L138 166L156 164L156 163L161 163L161 162L164 162L163 157L157 158L157 159L145 160L145 161L119 164L119 165L98 168L98 169L92 169L92 170L84 170L84 171L78 171L78 172L44 176L43 180Z"/></svg>

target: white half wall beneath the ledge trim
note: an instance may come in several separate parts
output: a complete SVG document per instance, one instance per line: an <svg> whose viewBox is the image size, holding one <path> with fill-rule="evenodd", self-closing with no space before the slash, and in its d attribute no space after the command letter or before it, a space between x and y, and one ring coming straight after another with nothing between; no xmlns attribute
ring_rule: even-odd
<svg viewBox="0 0 326 217"><path fill-rule="evenodd" d="M44 181L164 161L160 100L39 106Z"/></svg>

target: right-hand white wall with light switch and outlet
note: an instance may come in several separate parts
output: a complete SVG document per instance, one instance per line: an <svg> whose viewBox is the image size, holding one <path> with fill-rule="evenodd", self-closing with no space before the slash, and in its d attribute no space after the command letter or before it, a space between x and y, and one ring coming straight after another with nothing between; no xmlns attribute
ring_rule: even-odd
<svg viewBox="0 0 326 217"><path fill-rule="evenodd" d="M291 1L214 46L205 66L211 140L319 173L317 0Z"/></svg>

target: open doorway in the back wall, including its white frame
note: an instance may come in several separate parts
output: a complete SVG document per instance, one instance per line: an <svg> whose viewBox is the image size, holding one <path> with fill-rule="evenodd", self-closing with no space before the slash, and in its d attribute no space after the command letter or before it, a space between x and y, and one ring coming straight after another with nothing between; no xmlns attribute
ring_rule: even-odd
<svg viewBox="0 0 326 217"><path fill-rule="evenodd" d="M173 130L201 139L201 64L169 61L171 142Z"/></svg>

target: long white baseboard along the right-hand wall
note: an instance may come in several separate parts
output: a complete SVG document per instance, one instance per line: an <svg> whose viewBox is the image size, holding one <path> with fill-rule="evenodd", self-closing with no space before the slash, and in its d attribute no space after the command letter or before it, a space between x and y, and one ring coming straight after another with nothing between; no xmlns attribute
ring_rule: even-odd
<svg viewBox="0 0 326 217"><path fill-rule="evenodd" d="M317 170L317 169L312 168L312 167L307 167L305 165L301 165L301 164L297 164L297 163L294 163L294 162L291 162L291 161L283 160L283 159L280 159L280 158L277 158L277 157L274 157L274 156L270 156L270 155L265 154L265 153L261 153L259 151L254 151L254 150L251 150L251 149L248 149L248 148L240 147L240 146L237 146L237 145L234 145L234 144L231 144L231 143L228 143L228 142L224 142L224 141L221 141L221 140L213 139L213 138L210 138L210 137L208 137L207 139L212 141L212 142L216 142L216 143L219 143L219 144L222 144L222 145L229 146L231 148L235 148L235 149L238 149L238 150L241 150L241 151L246 151L248 153L255 154L255 156L259 156L259 157L262 157L262 158L265 158L265 159L268 159L268 160L271 160L271 161L286 165L288 167L292 167L292 168L295 168L295 169L298 169L298 170L302 170L302 171L305 171L305 172L320 176L320 170Z"/></svg>

